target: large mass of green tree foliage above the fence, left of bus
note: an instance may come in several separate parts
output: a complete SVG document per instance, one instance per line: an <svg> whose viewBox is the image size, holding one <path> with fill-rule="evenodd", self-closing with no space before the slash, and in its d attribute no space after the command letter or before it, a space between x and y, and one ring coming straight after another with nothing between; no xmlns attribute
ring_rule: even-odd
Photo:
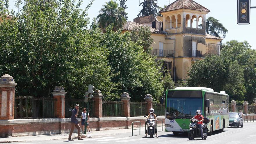
<svg viewBox="0 0 256 144"><path fill-rule="evenodd" d="M150 35L135 40L133 33L113 31L115 24L102 33L95 19L88 27L86 13L93 1L85 10L81 2L28 0L16 17L3 18L0 73L14 77L16 95L50 96L60 85L67 97L83 97L93 84L105 99L117 99L122 92L136 101L146 94L158 99L161 62L144 52ZM1 8L2 14L7 12Z"/></svg>

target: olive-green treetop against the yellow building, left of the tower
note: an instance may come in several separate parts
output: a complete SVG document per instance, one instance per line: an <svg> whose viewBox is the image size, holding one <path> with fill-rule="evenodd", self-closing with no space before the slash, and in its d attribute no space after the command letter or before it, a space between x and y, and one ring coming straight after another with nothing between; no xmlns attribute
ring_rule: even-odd
<svg viewBox="0 0 256 144"><path fill-rule="evenodd" d="M153 38L151 38L151 31L148 27L141 26L139 29L133 29L130 37L132 41L143 46L144 51L147 53L152 49L151 44L153 42Z"/></svg>

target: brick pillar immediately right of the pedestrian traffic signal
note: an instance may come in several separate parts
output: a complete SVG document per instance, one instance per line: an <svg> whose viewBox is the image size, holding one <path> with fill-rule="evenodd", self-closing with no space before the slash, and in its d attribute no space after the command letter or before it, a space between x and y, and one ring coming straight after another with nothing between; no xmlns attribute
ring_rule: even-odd
<svg viewBox="0 0 256 144"><path fill-rule="evenodd" d="M93 94L94 107L93 111L96 118L102 118L102 97L100 90L95 90Z"/></svg>

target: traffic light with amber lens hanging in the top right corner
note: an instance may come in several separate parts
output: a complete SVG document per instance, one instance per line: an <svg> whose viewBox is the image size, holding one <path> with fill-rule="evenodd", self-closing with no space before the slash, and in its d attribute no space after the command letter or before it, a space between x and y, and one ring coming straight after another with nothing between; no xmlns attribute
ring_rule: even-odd
<svg viewBox="0 0 256 144"><path fill-rule="evenodd" d="M250 24L250 1L237 0L237 24Z"/></svg>

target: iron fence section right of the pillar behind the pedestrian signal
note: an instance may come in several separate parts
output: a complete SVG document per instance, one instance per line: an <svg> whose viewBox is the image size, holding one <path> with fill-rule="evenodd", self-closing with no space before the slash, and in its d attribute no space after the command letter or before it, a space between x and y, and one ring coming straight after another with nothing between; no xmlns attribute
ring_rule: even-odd
<svg viewBox="0 0 256 144"><path fill-rule="evenodd" d="M102 117L122 117L123 102L102 101Z"/></svg>

